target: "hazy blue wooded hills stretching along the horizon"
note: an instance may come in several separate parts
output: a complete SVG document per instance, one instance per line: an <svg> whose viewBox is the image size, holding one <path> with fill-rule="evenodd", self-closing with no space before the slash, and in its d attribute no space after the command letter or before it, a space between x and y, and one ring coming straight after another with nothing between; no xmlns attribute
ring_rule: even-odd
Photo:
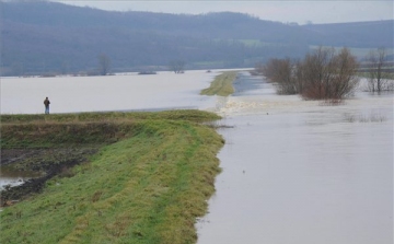
<svg viewBox="0 0 394 244"><path fill-rule="evenodd" d="M114 12L45 1L0 8L2 75L94 72L100 54L118 72L165 69L175 59L188 69L253 67L301 57L311 45L393 46L393 21L298 26L232 12Z"/></svg>

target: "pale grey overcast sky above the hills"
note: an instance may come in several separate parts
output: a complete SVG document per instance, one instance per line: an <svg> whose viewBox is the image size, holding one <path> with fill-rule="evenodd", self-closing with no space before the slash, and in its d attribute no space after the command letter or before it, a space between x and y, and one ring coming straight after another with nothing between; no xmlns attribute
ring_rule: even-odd
<svg viewBox="0 0 394 244"><path fill-rule="evenodd" d="M51 0L80 7L116 11L149 11L200 14L242 12L262 20L299 24L393 20L393 0L288 0L288 1L131 1L131 0Z"/></svg>

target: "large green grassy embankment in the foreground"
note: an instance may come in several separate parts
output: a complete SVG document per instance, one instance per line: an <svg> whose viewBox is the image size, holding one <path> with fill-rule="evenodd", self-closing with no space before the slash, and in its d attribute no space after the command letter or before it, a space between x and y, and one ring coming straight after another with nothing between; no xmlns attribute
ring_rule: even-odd
<svg viewBox="0 0 394 244"><path fill-rule="evenodd" d="M195 243L223 139L198 111L1 116L2 149L97 148L1 212L0 243Z"/></svg>

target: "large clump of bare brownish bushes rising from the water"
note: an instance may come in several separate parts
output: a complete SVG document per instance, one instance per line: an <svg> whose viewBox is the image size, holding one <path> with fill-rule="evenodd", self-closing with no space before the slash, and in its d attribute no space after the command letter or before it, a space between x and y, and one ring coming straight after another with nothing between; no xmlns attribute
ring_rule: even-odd
<svg viewBox="0 0 394 244"><path fill-rule="evenodd" d="M302 61L270 59L264 75L276 83L279 94L301 94L306 100L339 102L352 94L359 79L358 62L350 50L320 47Z"/></svg>

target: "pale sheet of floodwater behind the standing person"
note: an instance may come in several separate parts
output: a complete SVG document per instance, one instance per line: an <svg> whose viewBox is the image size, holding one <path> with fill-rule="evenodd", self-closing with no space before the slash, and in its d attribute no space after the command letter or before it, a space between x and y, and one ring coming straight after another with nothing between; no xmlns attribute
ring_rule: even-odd
<svg viewBox="0 0 394 244"><path fill-rule="evenodd" d="M1 114L206 108L212 97L200 96L217 72L160 72L109 77L1 78Z"/></svg>

